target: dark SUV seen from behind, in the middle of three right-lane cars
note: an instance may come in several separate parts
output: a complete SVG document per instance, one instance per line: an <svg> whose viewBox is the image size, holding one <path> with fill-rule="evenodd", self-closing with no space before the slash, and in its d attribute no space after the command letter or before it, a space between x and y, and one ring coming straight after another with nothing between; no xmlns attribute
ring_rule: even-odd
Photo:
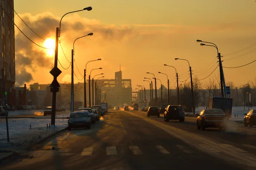
<svg viewBox="0 0 256 170"><path fill-rule="evenodd" d="M181 105L169 105L163 114L164 121L179 120L180 122L185 121L185 111Z"/></svg>

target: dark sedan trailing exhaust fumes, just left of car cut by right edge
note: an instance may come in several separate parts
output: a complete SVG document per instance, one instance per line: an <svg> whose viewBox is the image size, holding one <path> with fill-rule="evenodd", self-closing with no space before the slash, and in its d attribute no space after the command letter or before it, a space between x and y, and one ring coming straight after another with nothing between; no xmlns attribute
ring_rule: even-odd
<svg viewBox="0 0 256 170"><path fill-rule="evenodd" d="M221 109L204 109L200 114L196 114L196 125L198 129L204 130L207 127L218 127L225 130L227 121L224 111Z"/></svg>

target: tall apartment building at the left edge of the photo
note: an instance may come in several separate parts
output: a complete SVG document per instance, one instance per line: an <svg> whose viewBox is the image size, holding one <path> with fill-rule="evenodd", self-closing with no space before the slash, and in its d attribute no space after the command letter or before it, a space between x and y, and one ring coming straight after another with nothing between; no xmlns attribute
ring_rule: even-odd
<svg viewBox="0 0 256 170"><path fill-rule="evenodd" d="M0 0L0 101L3 104L3 78L8 105L16 107L14 0ZM11 20L11 19L12 20ZM2 69L4 77L2 76Z"/></svg>

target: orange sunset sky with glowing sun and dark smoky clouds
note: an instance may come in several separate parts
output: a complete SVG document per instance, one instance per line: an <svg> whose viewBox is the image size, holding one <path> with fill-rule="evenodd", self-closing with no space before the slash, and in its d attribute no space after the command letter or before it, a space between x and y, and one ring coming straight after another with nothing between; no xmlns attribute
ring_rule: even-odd
<svg viewBox="0 0 256 170"><path fill-rule="evenodd" d="M75 82L83 82L86 63L99 58L102 60L88 63L87 75L94 68L102 68L93 70L91 77L104 73L105 78L111 79L121 65L123 79L131 79L134 89L136 85L149 88L143 79L153 75L146 72L153 73L167 86L166 75L158 74L159 71L168 75L170 87L175 88L175 69L163 64L174 66L180 81L188 79L188 63L175 58L187 59L193 78L204 79L218 66L217 51L214 47L200 46L198 39L218 46L224 67L237 67L256 59L255 0L157 0L157 3L154 0L14 0L14 3L17 14L42 38L17 15L16 25L33 42L48 48L54 47L56 27L64 14L88 6L93 8L67 14L61 21L60 83L71 81L73 42L91 32L93 36L76 40L74 45ZM38 47L15 29L15 54L16 85L52 82L49 71L53 68L53 49ZM232 81L239 87L255 81L255 66L256 62L241 68L224 68L226 82ZM216 79L218 74L216 69L201 82Z"/></svg>

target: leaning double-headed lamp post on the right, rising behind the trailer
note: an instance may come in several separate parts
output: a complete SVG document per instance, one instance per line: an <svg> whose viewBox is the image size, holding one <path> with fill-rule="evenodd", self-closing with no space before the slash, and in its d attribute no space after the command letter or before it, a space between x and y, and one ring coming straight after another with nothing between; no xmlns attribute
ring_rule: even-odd
<svg viewBox="0 0 256 170"><path fill-rule="evenodd" d="M206 41L202 41L202 40L196 40L196 42L205 42L205 43L209 43L212 45L208 45L208 44L204 44L201 43L201 46L212 46L215 47L217 49L217 55L218 55L218 60L219 60L219 68L220 68L220 79L221 79L221 97L227 97L227 91L226 91L226 83L225 83L225 78L224 78L224 73L223 73L223 68L222 68L222 61L221 61L221 53L218 52L218 47L217 45L215 45L212 42L206 42Z"/></svg>

